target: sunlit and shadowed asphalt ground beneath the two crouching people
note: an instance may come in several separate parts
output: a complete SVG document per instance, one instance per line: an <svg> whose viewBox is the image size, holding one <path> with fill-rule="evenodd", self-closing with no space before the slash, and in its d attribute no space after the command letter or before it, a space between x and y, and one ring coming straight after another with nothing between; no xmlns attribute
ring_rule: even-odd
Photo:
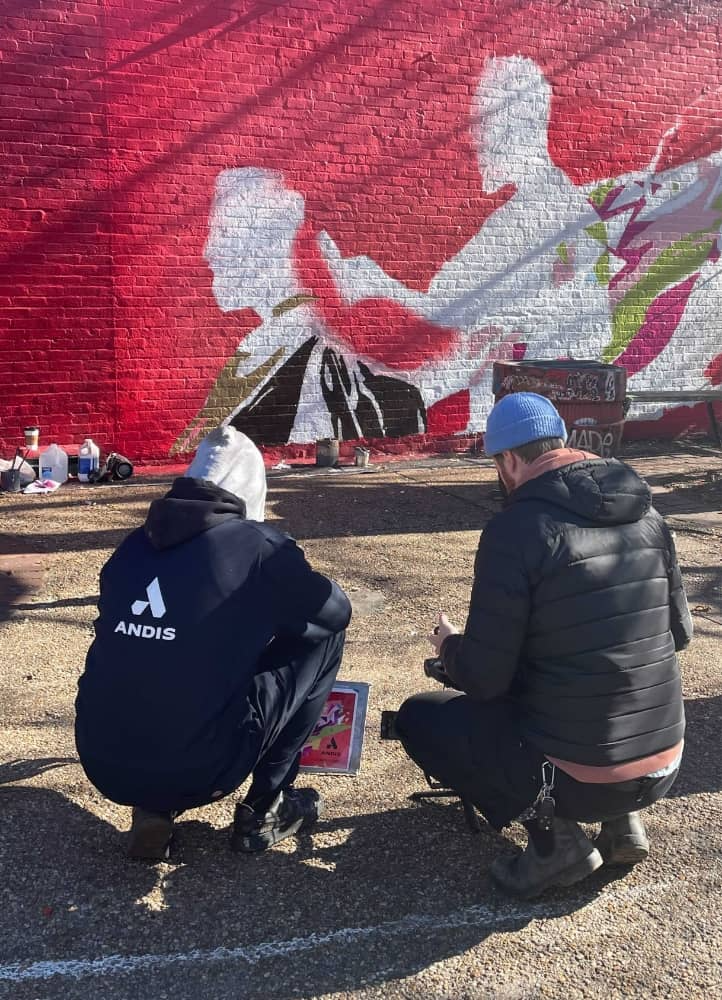
<svg viewBox="0 0 722 1000"><path fill-rule="evenodd" d="M712 997L722 994L722 457L629 459L676 531L696 638L687 748L646 814L650 858L533 903L488 876L522 831L467 829L380 713L434 687L439 610L463 624L488 463L446 459L274 476L269 519L355 606L340 676L370 682L358 777L307 776L327 812L260 857L228 847L233 801L184 814L169 863L124 856L129 810L75 760L73 700L98 571L168 483L0 494L0 997Z"/></svg>

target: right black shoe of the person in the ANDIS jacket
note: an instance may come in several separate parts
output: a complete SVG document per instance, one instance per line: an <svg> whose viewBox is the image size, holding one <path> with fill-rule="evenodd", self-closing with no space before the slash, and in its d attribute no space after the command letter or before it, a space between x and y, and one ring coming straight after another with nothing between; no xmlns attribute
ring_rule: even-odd
<svg viewBox="0 0 722 1000"><path fill-rule="evenodd" d="M266 851L279 840L312 826L323 812L323 799L313 788L286 788L267 812L255 812L239 802L233 817L231 848Z"/></svg>

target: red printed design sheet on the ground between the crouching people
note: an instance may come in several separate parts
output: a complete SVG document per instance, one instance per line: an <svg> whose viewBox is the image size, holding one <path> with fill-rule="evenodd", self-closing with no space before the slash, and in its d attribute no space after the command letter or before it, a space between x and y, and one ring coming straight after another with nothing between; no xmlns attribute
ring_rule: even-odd
<svg viewBox="0 0 722 1000"><path fill-rule="evenodd" d="M336 681L301 753L302 771L358 774L368 697L368 684Z"/></svg>

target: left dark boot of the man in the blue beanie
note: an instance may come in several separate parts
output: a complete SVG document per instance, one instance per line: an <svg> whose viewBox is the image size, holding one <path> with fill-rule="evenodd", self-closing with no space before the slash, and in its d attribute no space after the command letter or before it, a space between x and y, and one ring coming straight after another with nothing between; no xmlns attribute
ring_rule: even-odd
<svg viewBox="0 0 722 1000"><path fill-rule="evenodd" d="M553 850L539 854L529 838L526 850L513 858L497 858L491 876L502 889L521 899L533 899L555 886L574 885L604 863L584 831L569 819L553 820Z"/></svg>

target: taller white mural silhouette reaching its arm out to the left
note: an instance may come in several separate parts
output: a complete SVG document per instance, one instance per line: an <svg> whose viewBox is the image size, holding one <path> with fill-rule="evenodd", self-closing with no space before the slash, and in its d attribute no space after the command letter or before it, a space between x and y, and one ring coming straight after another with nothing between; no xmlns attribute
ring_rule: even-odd
<svg viewBox="0 0 722 1000"><path fill-rule="evenodd" d="M369 257L344 259L327 233L320 242L341 294L394 299L460 331L458 348L413 374L427 406L471 390L469 430L480 430L493 403L494 360L512 342L535 358L598 359L610 340L606 288L594 273L599 222L584 191L548 152L551 87L530 59L487 61L472 120L483 190L513 184L514 194L485 221L426 292L409 289ZM566 265L561 280L559 265Z"/></svg>

